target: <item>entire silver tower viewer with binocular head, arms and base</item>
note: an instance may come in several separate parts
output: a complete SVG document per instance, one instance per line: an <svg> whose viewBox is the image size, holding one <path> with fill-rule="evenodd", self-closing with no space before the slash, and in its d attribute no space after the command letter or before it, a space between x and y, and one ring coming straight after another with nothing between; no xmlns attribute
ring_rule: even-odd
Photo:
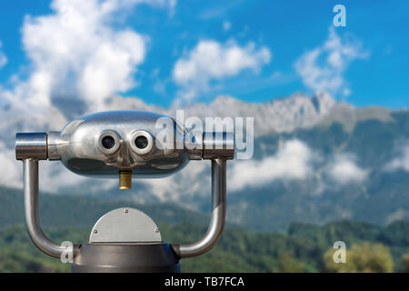
<svg viewBox="0 0 409 291"><path fill-rule="evenodd" d="M158 120L166 121L165 129ZM164 138L165 135L165 138ZM234 158L234 134L194 135L175 119L142 111L86 115L61 132L16 135L15 156L24 163L25 225L35 246L49 256L67 249L51 241L38 219L38 161L60 160L83 176L119 177L129 189L133 177L174 174L189 160L212 161L212 216L205 236L192 244L168 244L143 212L119 208L102 216L89 243L70 249L73 272L179 272L179 259L209 251L222 235L226 206L226 160Z"/></svg>

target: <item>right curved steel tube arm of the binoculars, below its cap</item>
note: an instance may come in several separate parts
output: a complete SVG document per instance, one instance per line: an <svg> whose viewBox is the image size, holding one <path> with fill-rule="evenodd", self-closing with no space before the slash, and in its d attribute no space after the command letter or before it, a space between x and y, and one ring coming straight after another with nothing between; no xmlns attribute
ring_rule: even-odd
<svg viewBox="0 0 409 291"><path fill-rule="evenodd" d="M205 236L192 244L172 245L181 258L199 256L208 252L222 236L226 206L226 160L212 159L212 216Z"/></svg>

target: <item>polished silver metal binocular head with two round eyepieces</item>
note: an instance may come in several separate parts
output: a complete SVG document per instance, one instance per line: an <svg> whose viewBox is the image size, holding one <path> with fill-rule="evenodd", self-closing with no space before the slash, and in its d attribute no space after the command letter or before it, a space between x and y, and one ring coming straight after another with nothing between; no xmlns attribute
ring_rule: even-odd
<svg viewBox="0 0 409 291"><path fill-rule="evenodd" d="M156 126L159 118L166 116L143 111L86 115L65 125L59 135L50 135L49 152L69 170L83 176L117 178L120 171L138 177L168 176L187 164L189 154L184 146L170 149L161 144L156 138L164 130ZM176 131L172 144L183 145L184 129L167 118ZM135 143L140 136L145 137L146 143L139 148Z"/></svg>

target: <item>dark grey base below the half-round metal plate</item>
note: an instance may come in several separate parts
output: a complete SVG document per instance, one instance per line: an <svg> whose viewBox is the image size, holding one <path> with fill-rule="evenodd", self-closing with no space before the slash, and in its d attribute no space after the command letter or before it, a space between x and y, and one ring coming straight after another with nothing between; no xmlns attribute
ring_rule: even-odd
<svg viewBox="0 0 409 291"><path fill-rule="evenodd" d="M85 244L73 273L178 273L179 257L169 244Z"/></svg>

